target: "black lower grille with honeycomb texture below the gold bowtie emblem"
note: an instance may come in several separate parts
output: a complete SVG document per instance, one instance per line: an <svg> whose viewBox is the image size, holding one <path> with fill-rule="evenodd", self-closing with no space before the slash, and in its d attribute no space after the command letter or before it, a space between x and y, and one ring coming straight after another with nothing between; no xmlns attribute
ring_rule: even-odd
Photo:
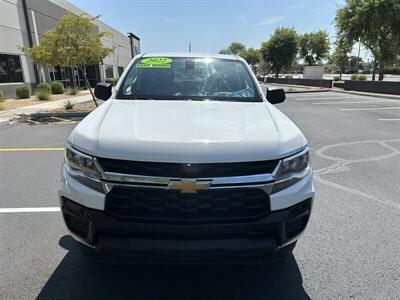
<svg viewBox="0 0 400 300"><path fill-rule="evenodd" d="M180 191L114 187L106 196L109 215L150 223L250 221L269 212L261 189L224 189L182 194Z"/></svg>

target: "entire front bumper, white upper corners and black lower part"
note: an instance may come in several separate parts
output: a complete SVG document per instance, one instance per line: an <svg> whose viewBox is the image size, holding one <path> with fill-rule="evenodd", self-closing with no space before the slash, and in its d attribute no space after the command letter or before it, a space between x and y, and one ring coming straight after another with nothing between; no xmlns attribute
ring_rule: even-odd
<svg viewBox="0 0 400 300"><path fill-rule="evenodd" d="M162 258L274 254L295 242L308 223L314 189L311 172L268 196L269 212L249 222L157 224L121 220L105 210L106 195L61 172L62 213L72 236L99 253Z"/></svg>

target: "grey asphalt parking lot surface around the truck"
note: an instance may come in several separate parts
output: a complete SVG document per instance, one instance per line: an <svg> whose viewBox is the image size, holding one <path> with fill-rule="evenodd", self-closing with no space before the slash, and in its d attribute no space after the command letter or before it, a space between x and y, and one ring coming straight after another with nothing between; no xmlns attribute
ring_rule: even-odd
<svg viewBox="0 0 400 300"><path fill-rule="evenodd" d="M84 260L57 211L75 125L1 125L0 299L399 299L400 101L299 93L278 107L309 140L316 203L294 255L258 266Z"/></svg>

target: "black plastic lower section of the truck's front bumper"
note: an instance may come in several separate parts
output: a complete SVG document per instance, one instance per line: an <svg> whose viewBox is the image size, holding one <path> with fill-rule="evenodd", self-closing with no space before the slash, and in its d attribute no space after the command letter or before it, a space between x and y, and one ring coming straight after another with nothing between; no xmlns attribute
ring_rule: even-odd
<svg viewBox="0 0 400 300"><path fill-rule="evenodd" d="M68 229L101 253L160 256L209 254L214 257L274 254L301 234L311 213L312 199L269 213L251 223L172 225L131 223L103 211L61 198Z"/></svg>

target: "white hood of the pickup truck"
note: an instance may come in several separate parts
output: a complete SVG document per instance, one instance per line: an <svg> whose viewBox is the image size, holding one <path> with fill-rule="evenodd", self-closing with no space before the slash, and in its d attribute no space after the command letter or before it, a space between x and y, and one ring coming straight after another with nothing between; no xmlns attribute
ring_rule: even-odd
<svg viewBox="0 0 400 300"><path fill-rule="evenodd" d="M277 159L307 142L266 102L113 99L83 119L69 143L97 157L212 163Z"/></svg>

